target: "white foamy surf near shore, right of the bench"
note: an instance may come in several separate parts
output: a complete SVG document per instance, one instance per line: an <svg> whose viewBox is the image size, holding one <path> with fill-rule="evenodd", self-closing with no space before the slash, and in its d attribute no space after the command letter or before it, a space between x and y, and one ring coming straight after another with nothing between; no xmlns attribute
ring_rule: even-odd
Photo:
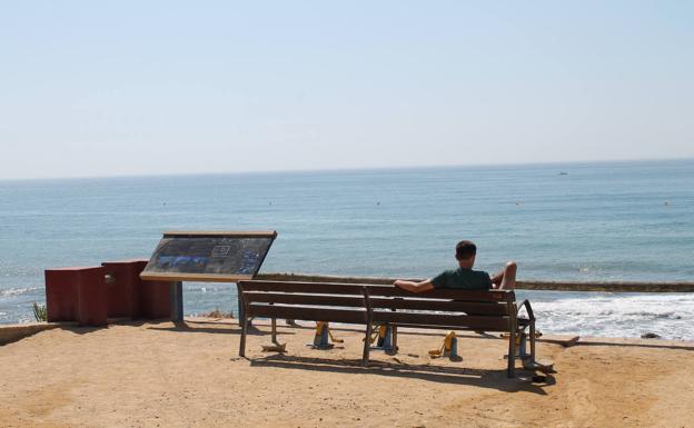
<svg viewBox="0 0 694 428"><path fill-rule="evenodd" d="M694 340L694 293L605 295L533 302L538 328L554 334Z"/></svg>

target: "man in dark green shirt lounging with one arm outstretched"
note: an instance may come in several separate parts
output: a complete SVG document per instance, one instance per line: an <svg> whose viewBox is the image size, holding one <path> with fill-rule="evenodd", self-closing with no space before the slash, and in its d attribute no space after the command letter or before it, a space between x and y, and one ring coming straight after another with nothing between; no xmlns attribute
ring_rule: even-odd
<svg viewBox="0 0 694 428"><path fill-rule="evenodd" d="M435 288L455 288L464 290L513 290L516 287L516 262L509 261L504 269L490 277L483 270L473 270L477 246L470 241L460 241L456 246L458 268L446 270L422 282L398 279L394 286L412 292L424 292Z"/></svg>

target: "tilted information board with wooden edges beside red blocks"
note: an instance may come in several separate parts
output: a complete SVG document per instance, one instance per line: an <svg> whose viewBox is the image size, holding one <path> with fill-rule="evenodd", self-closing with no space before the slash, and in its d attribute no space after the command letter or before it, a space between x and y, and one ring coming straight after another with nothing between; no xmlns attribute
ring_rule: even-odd
<svg viewBox="0 0 694 428"><path fill-rule="evenodd" d="M142 272L143 279L250 278L260 269L276 232L168 232ZM231 278L232 279L232 278Z"/></svg>

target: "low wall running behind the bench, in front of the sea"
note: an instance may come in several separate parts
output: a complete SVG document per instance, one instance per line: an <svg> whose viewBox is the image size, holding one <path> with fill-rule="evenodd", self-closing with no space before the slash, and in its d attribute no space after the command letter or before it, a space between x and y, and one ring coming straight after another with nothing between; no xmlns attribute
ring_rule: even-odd
<svg viewBox="0 0 694 428"><path fill-rule="evenodd" d="M278 281L393 283L395 278L338 277L313 273L260 273L257 279ZM420 279L413 279L419 281ZM552 291L609 291L609 292L694 292L694 282L568 282L518 281L516 288Z"/></svg>

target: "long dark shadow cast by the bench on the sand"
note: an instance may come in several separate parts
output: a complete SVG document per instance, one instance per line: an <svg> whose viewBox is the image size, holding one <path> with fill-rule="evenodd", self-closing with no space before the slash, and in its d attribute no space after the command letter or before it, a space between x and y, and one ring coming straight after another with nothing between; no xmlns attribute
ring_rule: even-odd
<svg viewBox="0 0 694 428"><path fill-rule="evenodd" d="M294 370L327 371L339 374L368 374L376 376L412 378L440 384L467 385L478 388L496 389L505 392L526 391L547 395L545 387L556 384L551 375L544 384L509 379L506 370L482 370L462 367L442 367L430 365L393 364L371 360L368 367L361 366L360 359L329 359L315 357L288 356L282 354L249 359L251 367L276 367ZM532 376L516 370L517 377Z"/></svg>

